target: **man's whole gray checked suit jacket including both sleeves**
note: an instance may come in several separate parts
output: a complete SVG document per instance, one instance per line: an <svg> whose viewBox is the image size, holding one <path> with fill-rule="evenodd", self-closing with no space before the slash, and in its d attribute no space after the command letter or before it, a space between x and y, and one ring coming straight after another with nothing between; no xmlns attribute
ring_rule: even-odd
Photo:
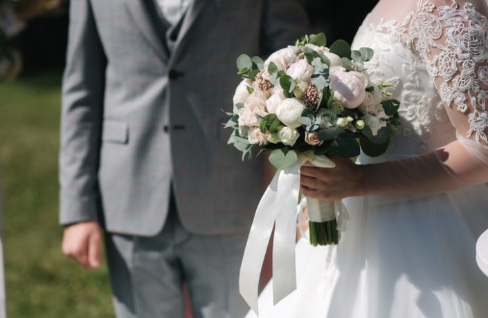
<svg viewBox="0 0 488 318"><path fill-rule="evenodd" d="M246 231L262 160L242 162L226 145L221 109L240 81L235 58L293 43L305 10L300 0L195 0L170 52L147 1L71 1L60 223L150 236L173 187L187 230Z"/></svg>

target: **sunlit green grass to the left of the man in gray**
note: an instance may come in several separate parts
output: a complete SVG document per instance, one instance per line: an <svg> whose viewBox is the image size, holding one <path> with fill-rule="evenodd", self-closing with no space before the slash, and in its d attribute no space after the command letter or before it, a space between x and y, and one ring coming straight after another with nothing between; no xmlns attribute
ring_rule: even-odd
<svg viewBox="0 0 488 318"><path fill-rule="evenodd" d="M57 224L60 73L0 84L0 182L10 318L114 317L107 267L66 259Z"/></svg>

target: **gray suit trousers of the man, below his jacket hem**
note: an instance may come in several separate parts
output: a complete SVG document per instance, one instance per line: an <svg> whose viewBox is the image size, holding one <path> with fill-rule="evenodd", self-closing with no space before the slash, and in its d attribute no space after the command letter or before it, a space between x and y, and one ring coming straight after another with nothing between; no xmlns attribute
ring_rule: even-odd
<svg viewBox="0 0 488 318"><path fill-rule="evenodd" d="M106 234L117 317L183 317L183 281L195 318L244 317L238 277L247 234L192 234L171 206L157 236Z"/></svg>

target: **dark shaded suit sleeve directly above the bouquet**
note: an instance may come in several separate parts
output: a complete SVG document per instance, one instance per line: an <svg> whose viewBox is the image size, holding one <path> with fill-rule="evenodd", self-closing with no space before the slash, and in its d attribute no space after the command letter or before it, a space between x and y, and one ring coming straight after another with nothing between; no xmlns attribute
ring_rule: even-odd
<svg viewBox="0 0 488 318"><path fill-rule="evenodd" d="M304 0L264 0L262 48L265 55L309 34Z"/></svg>

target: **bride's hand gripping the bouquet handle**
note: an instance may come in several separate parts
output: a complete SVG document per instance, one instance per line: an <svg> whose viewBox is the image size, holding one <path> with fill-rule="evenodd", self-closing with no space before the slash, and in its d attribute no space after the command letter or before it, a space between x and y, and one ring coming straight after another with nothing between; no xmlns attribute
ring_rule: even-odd
<svg viewBox="0 0 488 318"><path fill-rule="evenodd" d="M300 191L309 198L338 200L366 194L363 170L349 158L330 158L334 168L316 168L305 162L300 170Z"/></svg>

